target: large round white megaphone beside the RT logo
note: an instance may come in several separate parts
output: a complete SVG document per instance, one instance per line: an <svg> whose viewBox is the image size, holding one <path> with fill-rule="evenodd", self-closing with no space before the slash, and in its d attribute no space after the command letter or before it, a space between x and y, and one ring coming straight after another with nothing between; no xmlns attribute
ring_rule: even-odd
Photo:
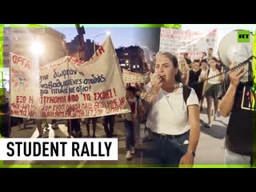
<svg viewBox="0 0 256 192"><path fill-rule="evenodd" d="M250 42L238 42L238 30L233 30L226 34L218 45L218 57L225 66L230 67L235 60L238 66L244 66L244 70L248 72L240 82L253 81L253 40L253 34L250 32Z"/></svg>

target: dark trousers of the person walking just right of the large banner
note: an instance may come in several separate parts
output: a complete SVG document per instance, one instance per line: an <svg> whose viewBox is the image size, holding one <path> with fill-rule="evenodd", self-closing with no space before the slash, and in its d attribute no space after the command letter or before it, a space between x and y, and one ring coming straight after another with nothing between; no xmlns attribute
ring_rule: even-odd
<svg viewBox="0 0 256 192"><path fill-rule="evenodd" d="M125 129L126 129L126 150L130 150L135 146L135 131L133 127L133 122L125 119Z"/></svg>

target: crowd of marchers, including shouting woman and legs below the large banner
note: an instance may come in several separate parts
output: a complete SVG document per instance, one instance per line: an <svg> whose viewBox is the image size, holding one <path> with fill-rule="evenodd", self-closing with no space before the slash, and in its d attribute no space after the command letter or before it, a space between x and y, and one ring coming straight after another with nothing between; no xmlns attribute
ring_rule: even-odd
<svg viewBox="0 0 256 192"><path fill-rule="evenodd" d="M135 144L141 145L143 142L141 138L143 127L143 131L147 130L150 133L151 142L146 142L142 148L144 149L142 159L152 160L143 164L193 165L200 127L211 128L214 121L218 119L220 99L218 93L229 69L214 57L212 48L208 49L207 53L202 52L202 57L193 61L187 53L179 58L169 52L150 53L144 56L142 71L144 74L149 74L149 82L145 85L138 85L138 83L134 86L126 85L126 102L131 110L129 114L122 114L126 133L126 158L132 159ZM205 98L206 109L204 110ZM6 98L3 97L2 101L1 112L8 115ZM212 110L212 102L214 102L214 110ZM199 121L202 111L206 111L208 117L208 122L204 124ZM99 118L84 120L87 137L97 137L96 123ZM107 138L114 137L115 120L116 115L102 117L102 128ZM17 122L19 130L22 124L23 129L26 129L25 118L18 118ZM93 126L92 135L90 122ZM8 122L3 123L3 127L10 127L7 126ZM69 137L82 137L82 123L82 119L66 120ZM38 128L38 138L42 138L42 130L49 130L49 124L41 119L35 120L35 124ZM53 128L58 127L54 119L51 125ZM6 128L2 133L3 136L9 137L10 129ZM163 142L165 139L171 142Z"/></svg>

